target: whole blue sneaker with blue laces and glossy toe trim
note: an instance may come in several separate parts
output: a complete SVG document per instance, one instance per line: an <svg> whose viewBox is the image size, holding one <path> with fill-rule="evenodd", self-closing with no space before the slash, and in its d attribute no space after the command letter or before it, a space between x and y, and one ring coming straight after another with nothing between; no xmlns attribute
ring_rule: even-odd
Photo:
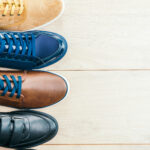
<svg viewBox="0 0 150 150"><path fill-rule="evenodd" d="M59 61L66 51L66 40L56 33L0 32L0 67L40 69Z"/></svg>

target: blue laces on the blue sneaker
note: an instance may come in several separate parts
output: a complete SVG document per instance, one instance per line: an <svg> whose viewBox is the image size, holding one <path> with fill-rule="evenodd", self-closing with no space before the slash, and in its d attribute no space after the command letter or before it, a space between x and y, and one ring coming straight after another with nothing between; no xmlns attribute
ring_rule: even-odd
<svg viewBox="0 0 150 150"><path fill-rule="evenodd" d="M0 54L4 52L15 56L35 56L34 35L26 33L3 34L3 37L0 36Z"/></svg>

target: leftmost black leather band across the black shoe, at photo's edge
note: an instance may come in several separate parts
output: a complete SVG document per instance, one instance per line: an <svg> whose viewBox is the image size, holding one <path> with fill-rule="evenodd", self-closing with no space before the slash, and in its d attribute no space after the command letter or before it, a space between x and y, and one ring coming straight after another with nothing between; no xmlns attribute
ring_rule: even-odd
<svg viewBox="0 0 150 150"><path fill-rule="evenodd" d="M0 145L7 145L11 136L11 118L2 116L0 118Z"/></svg>

